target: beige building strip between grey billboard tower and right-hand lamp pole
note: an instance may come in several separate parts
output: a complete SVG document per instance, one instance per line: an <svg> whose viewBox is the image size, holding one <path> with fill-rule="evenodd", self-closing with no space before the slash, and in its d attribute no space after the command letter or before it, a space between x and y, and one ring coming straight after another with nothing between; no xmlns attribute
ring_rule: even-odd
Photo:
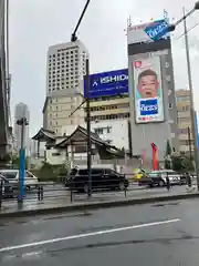
<svg viewBox="0 0 199 266"><path fill-rule="evenodd" d="M190 117L190 91L176 91L176 103L178 111L179 145L181 153L188 153L193 150L193 139Z"/></svg>

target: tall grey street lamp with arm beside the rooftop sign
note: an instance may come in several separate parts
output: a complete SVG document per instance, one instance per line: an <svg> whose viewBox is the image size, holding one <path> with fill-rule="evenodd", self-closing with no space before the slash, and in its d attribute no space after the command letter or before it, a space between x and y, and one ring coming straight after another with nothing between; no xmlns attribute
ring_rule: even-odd
<svg viewBox="0 0 199 266"><path fill-rule="evenodd" d="M185 13L184 8L184 17L179 19L176 23L170 24L167 29L168 32L174 31L176 27L184 22L185 29L185 45L186 45L186 59L187 59L187 73L188 73L188 82L189 82L189 90L190 90L190 117L191 117L191 131L192 131L192 139L193 139L193 151L195 151L195 164L196 164L196 172L197 172L197 187L199 191L199 165L198 165L198 149L197 149L197 136L196 136L196 122L195 122L195 106L193 106L193 91L192 91L192 79L191 79L191 65L190 65L190 53L189 53L189 40L188 40L188 30L187 30L187 22L186 19L192 14L196 10L199 10L199 1L195 3L195 7L188 12Z"/></svg>

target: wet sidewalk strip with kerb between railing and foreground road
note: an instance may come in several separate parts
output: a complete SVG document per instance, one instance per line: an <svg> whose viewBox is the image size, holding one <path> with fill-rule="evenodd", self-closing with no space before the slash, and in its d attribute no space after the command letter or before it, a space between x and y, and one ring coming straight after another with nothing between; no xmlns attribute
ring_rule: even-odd
<svg viewBox="0 0 199 266"><path fill-rule="evenodd" d="M73 202L71 202L70 196L50 197L41 202L32 198L24 200L21 206L18 205L17 201L8 201L2 203L0 217L75 212L87 208L115 207L191 197L199 197L199 193L196 190L188 192L184 186L174 187L170 192L167 192L165 188L128 191L126 197L124 192L95 193L92 195L92 198L87 198L86 195L75 194Z"/></svg>

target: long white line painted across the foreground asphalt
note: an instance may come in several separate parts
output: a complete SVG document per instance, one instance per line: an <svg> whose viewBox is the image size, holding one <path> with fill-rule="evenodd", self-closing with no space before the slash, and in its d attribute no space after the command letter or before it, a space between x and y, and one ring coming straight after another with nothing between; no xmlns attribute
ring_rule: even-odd
<svg viewBox="0 0 199 266"><path fill-rule="evenodd" d="M57 242L78 239L78 238L84 238L84 237L90 237L90 236L105 235L105 234L111 234L111 233L116 233L116 232L122 232L122 231L130 231L130 229L136 229L136 228L156 226L156 225L165 225L165 224L170 224L170 223L176 223L176 222L180 222L180 219L179 218L167 219L167 221L161 221L161 222L154 222L154 223L147 223L147 224L132 225L132 226L126 226L126 227L118 227L118 228L113 228L113 229L91 232L91 233L86 233L86 234L80 234L80 235L72 235L72 236L52 238L52 239L48 239L48 241L28 243L28 244L22 244L22 245L8 246L8 247L0 248L0 253L11 252L11 250L15 250L15 249L22 249L22 248L27 248L27 247L43 246L43 245L46 245L46 244L54 244L54 243L57 243Z"/></svg>

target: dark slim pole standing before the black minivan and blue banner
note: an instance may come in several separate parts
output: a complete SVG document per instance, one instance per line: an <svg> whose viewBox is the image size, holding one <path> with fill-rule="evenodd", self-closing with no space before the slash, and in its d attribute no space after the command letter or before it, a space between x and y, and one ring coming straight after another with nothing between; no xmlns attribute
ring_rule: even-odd
<svg viewBox="0 0 199 266"><path fill-rule="evenodd" d="M91 143L91 110L90 110L90 60L86 59L86 122L87 122L87 175L88 175L88 192L87 196L92 196L92 143Z"/></svg>

